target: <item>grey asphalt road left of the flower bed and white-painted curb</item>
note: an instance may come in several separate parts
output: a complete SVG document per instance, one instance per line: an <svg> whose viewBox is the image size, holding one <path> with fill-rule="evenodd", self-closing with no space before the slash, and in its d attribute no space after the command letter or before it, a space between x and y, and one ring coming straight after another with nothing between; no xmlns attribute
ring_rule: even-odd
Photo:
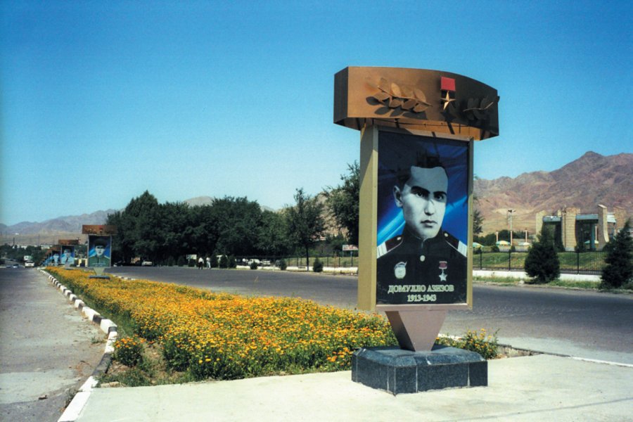
<svg viewBox="0 0 633 422"><path fill-rule="evenodd" d="M0 269L0 420L57 421L104 339L37 269Z"/></svg>

